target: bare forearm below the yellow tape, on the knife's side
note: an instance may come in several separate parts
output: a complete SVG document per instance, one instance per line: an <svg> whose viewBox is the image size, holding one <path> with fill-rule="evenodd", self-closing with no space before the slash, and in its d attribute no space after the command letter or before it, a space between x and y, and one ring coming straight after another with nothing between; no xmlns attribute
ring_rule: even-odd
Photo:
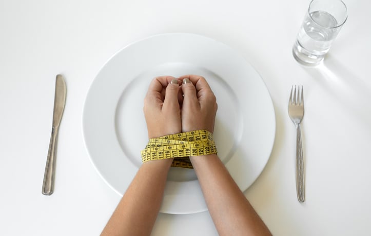
<svg viewBox="0 0 371 236"><path fill-rule="evenodd" d="M161 207L172 159L144 163L102 235L150 235Z"/></svg>

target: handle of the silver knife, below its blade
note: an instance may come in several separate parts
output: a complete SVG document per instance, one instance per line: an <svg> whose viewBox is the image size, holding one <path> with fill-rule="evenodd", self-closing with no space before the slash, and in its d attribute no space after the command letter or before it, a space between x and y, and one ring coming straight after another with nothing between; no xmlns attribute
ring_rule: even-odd
<svg viewBox="0 0 371 236"><path fill-rule="evenodd" d="M55 170L55 144L57 138L58 129L54 127L51 130L50 143L48 158L46 160L45 172L44 172L44 181L42 193L44 195L51 195L54 189L54 170Z"/></svg>

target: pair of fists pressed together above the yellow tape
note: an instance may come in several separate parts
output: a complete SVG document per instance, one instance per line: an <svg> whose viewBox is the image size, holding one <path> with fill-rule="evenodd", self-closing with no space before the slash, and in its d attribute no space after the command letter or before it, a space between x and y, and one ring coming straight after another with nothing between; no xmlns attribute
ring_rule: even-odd
<svg viewBox="0 0 371 236"><path fill-rule="evenodd" d="M154 78L144 99L148 138L206 129L214 131L218 105L205 78Z"/></svg>

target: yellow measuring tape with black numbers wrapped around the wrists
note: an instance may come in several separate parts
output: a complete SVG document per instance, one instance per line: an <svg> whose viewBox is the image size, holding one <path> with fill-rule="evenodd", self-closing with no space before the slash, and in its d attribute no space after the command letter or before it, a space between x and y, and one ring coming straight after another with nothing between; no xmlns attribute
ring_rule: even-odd
<svg viewBox="0 0 371 236"><path fill-rule="evenodd" d="M171 166L193 168L189 156L218 153L212 137L207 130L170 134L150 139L141 151L142 162L174 158Z"/></svg>

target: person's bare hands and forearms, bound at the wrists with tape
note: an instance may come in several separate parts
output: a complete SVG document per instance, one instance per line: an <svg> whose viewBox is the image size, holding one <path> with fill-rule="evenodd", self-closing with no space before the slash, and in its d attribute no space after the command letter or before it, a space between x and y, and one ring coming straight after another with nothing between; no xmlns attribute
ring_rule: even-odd
<svg viewBox="0 0 371 236"><path fill-rule="evenodd" d="M217 108L205 78L197 75L157 77L144 100L148 137L199 129L213 132ZM216 154L208 158L189 156L189 159L220 235L271 235ZM102 235L151 234L172 161L145 162L139 168ZM150 201L143 204L140 199Z"/></svg>

